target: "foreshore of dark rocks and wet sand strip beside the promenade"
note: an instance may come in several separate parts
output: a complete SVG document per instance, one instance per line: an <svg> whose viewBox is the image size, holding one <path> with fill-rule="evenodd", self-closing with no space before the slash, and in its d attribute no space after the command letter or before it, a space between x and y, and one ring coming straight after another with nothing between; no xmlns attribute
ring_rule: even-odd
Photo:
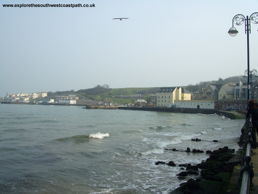
<svg viewBox="0 0 258 194"><path fill-rule="evenodd" d="M180 178L180 174L189 174L188 172L193 171L193 167L197 167L199 175L181 183L169 194L239 193L236 187L237 182L234 180L239 173L236 174L237 177L234 177L233 173L235 166L238 168L241 166L243 145L239 145L238 142L239 137L219 141L219 145L210 149L210 153L206 151L206 154L210 155L206 161L195 166L189 164L186 171L177 174ZM187 176L183 176L183 178L187 178Z"/></svg>

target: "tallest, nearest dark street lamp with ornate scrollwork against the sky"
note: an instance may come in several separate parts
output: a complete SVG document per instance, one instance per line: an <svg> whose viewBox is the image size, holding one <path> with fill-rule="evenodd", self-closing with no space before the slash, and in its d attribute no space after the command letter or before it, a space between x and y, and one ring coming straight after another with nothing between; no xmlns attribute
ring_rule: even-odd
<svg viewBox="0 0 258 194"><path fill-rule="evenodd" d="M250 26L250 21L253 24L258 24L258 12L255 12L251 14L250 18L248 16L242 15L242 14L237 14L234 16L232 19L232 27L228 30L228 34L232 37L236 36L238 33L237 29L234 27L234 23L238 26L242 25L245 22L245 34L247 35L247 72L249 72L249 34L251 33L251 26ZM249 73L247 74L247 103L249 101Z"/></svg>

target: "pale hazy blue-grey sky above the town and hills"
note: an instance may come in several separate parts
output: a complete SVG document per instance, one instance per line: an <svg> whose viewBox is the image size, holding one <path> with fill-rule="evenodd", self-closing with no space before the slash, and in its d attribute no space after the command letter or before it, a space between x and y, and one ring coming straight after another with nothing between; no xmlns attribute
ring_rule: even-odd
<svg viewBox="0 0 258 194"><path fill-rule="evenodd" d="M2 4L95 7L3 7ZM0 97L6 93L175 87L243 76L245 24L257 0L1 0ZM113 20L112 18L129 18ZM251 23L250 70L258 70Z"/></svg>

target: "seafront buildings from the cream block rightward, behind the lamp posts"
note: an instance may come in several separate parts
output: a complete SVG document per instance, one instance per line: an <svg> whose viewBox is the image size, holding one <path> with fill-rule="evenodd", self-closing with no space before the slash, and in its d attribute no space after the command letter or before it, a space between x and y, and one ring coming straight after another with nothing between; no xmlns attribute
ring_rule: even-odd
<svg viewBox="0 0 258 194"><path fill-rule="evenodd" d="M251 83L251 97L257 100L258 81ZM203 108L221 110L233 106L243 110L247 105L247 83L207 84L204 89L189 92L183 87L162 87L150 95L150 103L158 107Z"/></svg>

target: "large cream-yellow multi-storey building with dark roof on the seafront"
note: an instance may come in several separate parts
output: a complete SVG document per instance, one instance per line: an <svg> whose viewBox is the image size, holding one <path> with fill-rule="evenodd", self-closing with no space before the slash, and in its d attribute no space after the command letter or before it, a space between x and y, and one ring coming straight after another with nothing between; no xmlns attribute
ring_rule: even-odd
<svg viewBox="0 0 258 194"><path fill-rule="evenodd" d="M175 100L191 100L191 93L181 87L163 87L158 90L157 106L167 106Z"/></svg>

